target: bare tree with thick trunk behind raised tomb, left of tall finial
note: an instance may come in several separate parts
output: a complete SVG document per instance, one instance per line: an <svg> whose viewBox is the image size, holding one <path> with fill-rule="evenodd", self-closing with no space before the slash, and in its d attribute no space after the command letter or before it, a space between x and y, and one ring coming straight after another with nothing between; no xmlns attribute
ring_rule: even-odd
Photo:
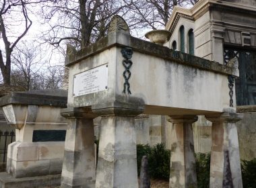
<svg viewBox="0 0 256 188"><path fill-rule="evenodd" d="M118 0L79 0L47 2L42 6L44 24L49 30L43 40L59 47L63 40L84 48L106 35L113 15L123 14L127 5ZM57 20L57 22L56 22Z"/></svg>

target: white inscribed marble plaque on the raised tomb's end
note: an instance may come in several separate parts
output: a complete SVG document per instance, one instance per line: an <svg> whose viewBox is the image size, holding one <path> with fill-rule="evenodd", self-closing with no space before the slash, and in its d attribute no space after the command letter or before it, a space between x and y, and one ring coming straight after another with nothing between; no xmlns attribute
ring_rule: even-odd
<svg viewBox="0 0 256 188"><path fill-rule="evenodd" d="M108 89L108 64L97 66L74 76L73 97Z"/></svg>

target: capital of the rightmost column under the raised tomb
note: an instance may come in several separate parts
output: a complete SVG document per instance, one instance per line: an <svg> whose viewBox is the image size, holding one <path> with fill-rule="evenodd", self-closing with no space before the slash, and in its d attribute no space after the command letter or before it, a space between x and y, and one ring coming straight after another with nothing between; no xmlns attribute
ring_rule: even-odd
<svg viewBox="0 0 256 188"><path fill-rule="evenodd" d="M243 119L243 114L234 112L214 113L205 115L205 118L210 122L235 123Z"/></svg>

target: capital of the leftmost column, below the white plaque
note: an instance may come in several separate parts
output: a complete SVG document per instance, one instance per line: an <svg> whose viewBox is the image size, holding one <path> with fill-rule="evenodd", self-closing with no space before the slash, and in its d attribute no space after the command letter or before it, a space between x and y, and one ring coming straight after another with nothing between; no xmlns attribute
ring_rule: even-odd
<svg viewBox="0 0 256 188"><path fill-rule="evenodd" d="M67 119L96 118L98 115L92 112L90 107L68 107L61 109L61 115Z"/></svg>

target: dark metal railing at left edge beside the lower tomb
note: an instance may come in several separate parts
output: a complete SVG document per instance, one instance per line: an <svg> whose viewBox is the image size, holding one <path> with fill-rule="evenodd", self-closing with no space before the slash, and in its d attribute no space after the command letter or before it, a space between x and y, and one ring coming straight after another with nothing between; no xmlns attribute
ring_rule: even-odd
<svg viewBox="0 0 256 188"><path fill-rule="evenodd" d="M11 131L2 131L0 130L0 162L6 162L7 148L15 139L15 132Z"/></svg>

